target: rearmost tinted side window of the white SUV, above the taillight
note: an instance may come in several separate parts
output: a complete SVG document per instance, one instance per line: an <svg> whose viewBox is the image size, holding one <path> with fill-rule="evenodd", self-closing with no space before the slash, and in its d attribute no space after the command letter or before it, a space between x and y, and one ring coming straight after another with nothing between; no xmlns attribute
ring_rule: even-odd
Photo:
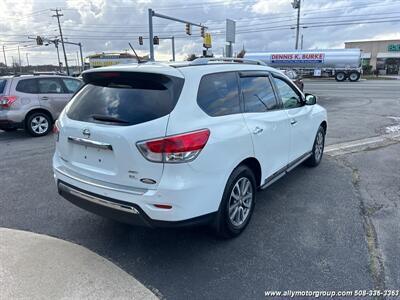
<svg viewBox="0 0 400 300"><path fill-rule="evenodd" d="M197 103L212 117L240 113L239 87L236 73L216 73L203 76Z"/></svg>

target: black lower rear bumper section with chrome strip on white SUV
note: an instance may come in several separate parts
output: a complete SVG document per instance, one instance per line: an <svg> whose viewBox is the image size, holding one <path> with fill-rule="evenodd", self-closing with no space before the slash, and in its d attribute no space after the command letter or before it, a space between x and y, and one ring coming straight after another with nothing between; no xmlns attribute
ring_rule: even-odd
<svg viewBox="0 0 400 300"><path fill-rule="evenodd" d="M185 227L211 223L215 213L183 221L160 221L151 219L137 204L124 202L109 197L84 191L71 184L57 180L58 193L87 211L114 219L119 222L146 227Z"/></svg>

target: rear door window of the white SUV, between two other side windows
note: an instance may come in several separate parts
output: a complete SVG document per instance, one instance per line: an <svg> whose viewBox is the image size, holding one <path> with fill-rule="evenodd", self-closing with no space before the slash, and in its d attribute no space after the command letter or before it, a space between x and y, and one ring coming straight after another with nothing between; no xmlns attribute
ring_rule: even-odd
<svg viewBox="0 0 400 300"><path fill-rule="evenodd" d="M265 112L277 108L274 90L266 76L240 78L245 112Z"/></svg>

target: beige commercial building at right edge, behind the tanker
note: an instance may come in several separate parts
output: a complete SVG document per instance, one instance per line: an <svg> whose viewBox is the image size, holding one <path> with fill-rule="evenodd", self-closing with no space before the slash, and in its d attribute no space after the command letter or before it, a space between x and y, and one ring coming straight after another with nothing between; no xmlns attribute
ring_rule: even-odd
<svg viewBox="0 0 400 300"><path fill-rule="evenodd" d="M365 69L377 70L381 75L400 74L400 40L352 41L344 44L345 48L361 49Z"/></svg>

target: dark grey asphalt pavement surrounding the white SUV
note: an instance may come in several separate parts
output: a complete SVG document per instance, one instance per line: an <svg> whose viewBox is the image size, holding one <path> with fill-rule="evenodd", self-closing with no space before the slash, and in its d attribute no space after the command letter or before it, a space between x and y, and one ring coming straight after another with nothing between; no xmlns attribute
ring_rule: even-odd
<svg viewBox="0 0 400 300"><path fill-rule="evenodd" d="M305 91L328 110L329 145L400 133L400 81L306 80ZM53 151L52 136L0 131L0 227L83 245L161 298L400 287L400 143L298 167L258 193L250 226L228 241L207 228L131 227L73 206L57 194Z"/></svg>

